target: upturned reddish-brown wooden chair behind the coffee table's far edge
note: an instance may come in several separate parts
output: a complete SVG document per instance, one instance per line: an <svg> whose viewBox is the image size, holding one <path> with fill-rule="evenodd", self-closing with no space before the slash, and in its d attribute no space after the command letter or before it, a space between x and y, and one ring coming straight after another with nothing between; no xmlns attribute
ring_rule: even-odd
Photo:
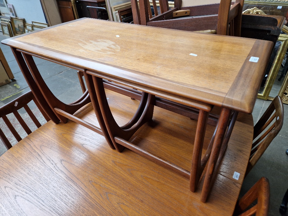
<svg viewBox="0 0 288 216"><path fill-rule="evenodd" d="M155 16L152 17L149 0L131 0L134 24L178 29L185 31L216 30L219 35L240 37L242 7L244 0L221 0L220 4L181 7L181 0L174 1L169 9L168 0L159 0L161 14L158 14L156 1L152 0ZM190 12L186 17L173 18L179 10Z"/></svg>

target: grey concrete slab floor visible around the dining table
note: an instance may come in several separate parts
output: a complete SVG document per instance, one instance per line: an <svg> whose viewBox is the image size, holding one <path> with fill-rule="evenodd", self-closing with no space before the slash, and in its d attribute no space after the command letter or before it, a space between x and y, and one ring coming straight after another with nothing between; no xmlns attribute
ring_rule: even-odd
<svg viewBox="0 0 288 216"><path fill-rule="evenodd" d="M7 37L0 33L0 40L5 38ZM30 89L18 67L10 47L0 44L0 48L16 79L16 82L11 82L0 87L1 107L25 92L28 92ZM39 58L35 58L35 62L46 84L61 101L70 103L82 95L82 90L75 70ZM71 92L73 92L73 94L71 94ZM257 122L270 103L271 101L257 99L252 113L254 123ZM284 105L284 112L285 119L282 130L272 141L249 175L245 178L240 193L240 196L242 196L262 176L267 177L270 182L269 215L280 215L279 206L288 188L288 155L285 154L285 151L288 148L288 105ZM17 143L17 141L15 141L15 143ZM0 141L0 156L5 151L5 147Z"/></svg>

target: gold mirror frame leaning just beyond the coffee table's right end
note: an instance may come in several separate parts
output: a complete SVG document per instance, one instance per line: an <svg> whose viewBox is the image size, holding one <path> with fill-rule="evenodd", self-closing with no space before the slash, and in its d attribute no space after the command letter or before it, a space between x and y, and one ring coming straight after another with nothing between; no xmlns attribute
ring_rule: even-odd
<svg viewBox="0 0 288 216"><path fill-rule="evenodd" d="M264 100L268 99L269 93L272 89L272 86L274 84L274 81L276 79L278 71L280 69L281 63L284 59L286 50L288 48L288 35L281 34L278 37L278 41L282 41L283 43L281 44L281 46L279 46L279 49L277 51L277 55L276 55L275 60L273 62L272 68L268 74L268 78L267 78L267 81L265 83L264 90L263 90L262 94L258 93L257 98L264 99Z"/></svg>

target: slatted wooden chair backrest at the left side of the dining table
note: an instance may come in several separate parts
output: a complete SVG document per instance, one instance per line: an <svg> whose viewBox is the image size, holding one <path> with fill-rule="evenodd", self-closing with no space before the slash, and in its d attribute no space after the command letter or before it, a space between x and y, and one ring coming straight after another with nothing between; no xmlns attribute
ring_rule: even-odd
<svg viewBox="0 0 288 216"><path fill-rule="evenodd" d="M10 132L13 134L13 136L15 137L15 139L18 142L20 140L22 140L22 138L20 137L19 133L16 131L15 126L13 126L12 123L7 118L7 115L10 113L13 113L14 116L16 117L16 119L18 120L18 122L20 123L20 125L22 126L22 128L25 130L25 132L27 134L31 134L32 133L31 129L26 124L26 122L23 120L23 118L19 114L18 110L21 109L22 107L24 107L24 109L26 110L26 112L28 113L28 115L30 116L30 118L32 119L34 124L37 126L37 128L41 127L40 122L37 120L37 118L35 117L35 115L31 111L31 109L27 105L32 100L37 105L38 109L42 113L45 120L49 121L50 120L49 117L43 111L43 109L41 108L41 106L39 105L38 101L35 99L35 96L33 95L33 93L31 91L21 95L20 97L16 98L15 100L11 101L10 103L7 103L4 106L0 107L0 118L3 119L7 128L10 130ZM13 122L14 122L14 120L13 120ZM4 143L4 145L7 149L10 149L12 147L10 141L7 139L7 137L5 136L5 134L3 132L3 128L2 128L2 130L0 128L0 139L2 140L2 142Z"/></svg>

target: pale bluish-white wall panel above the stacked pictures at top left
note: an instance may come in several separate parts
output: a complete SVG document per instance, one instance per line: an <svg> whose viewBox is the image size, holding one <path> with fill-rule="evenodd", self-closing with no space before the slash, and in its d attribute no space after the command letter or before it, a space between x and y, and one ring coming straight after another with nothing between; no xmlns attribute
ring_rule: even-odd
<svg viewBox="0 0 288 216"><path fill-rule="evenodd" d="M25 22L46 23L40 0L6 0L6 2L13 4L16 16L24 18Z"/></svg>

